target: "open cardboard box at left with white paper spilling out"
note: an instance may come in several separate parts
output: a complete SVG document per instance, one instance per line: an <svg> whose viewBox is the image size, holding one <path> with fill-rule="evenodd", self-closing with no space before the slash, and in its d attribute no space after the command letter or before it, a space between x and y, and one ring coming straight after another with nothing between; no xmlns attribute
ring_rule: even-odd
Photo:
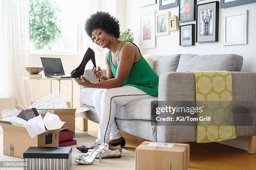
<svg viewBox="0 0 256 170"><path fill-rule="evenodd" d="M3 128L3 154L23 158L23 153L31 146L59 147L59 131L66 129L47 130L31 138L26 128L1 121Z"/></svg>

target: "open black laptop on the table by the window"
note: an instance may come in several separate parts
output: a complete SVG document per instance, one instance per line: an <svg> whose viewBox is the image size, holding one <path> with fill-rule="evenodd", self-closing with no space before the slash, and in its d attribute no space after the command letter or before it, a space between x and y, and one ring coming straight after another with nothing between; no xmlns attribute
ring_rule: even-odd
<svg viewBox="0 0 256 170"><path fill-rule="evenodd" d="M41 58L42 65L44 67L45 77L71 78L69 75L65 75L60 58L46 58L46 57L40 57L40 58Z"/></svg>

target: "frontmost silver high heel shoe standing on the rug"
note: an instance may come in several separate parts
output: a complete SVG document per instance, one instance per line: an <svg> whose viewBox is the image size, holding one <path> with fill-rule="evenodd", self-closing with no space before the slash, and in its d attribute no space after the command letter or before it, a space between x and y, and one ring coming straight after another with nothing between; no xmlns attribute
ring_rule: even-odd
<svg viewBox="0 0 256 170"><path fill-rule="evenodd" d="M94 162L96 156L99 155L99 159L100 159L100 163L101 163L101 157L102 157L102 152L103 150L107 147L107 144L102 144L99 145L95 148L93 148L93 151L91 152L90 155L85 156L85 155L80 155L78 157L78 159L76 158L76 160L74 160L76 163L82 164L82 165L92 165L92 163Z"/></svg>

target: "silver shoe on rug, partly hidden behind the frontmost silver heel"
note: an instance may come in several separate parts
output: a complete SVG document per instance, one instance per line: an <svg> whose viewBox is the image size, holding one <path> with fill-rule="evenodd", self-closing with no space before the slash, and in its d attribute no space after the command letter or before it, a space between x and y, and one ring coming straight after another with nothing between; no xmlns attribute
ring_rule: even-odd
<svg viewBox="0 0 256 170"><path fill-rule="evenodd" d="M91 155L93 150L88 150L86 155ZM106 145L106 148L102 151L101 158L121 158L122 154L122 147L121 145L119 146L112 146L110 144ZM97 154L96 158L100 158L100 155Z"/></svg>

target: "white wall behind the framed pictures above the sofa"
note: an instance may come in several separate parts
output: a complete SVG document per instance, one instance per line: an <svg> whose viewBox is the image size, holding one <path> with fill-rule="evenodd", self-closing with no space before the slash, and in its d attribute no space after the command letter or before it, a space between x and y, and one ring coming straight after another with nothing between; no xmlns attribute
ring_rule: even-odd
<svg viewBox="0 0 256 170"><path fill-rule="evenodd" d="M205 3L211 2L212 0L203 0L197 2ZM140 36L140 16L141 13L149 10L155 10L159 12L159 0L157 4L149 5L146 7L139 7L139 0L126 0L126 28L131 28L134 34L134 42L139 45ZM248 45L234 45L234 46L223 46L223 15L225 13L233 13L241 10L249 10L248 15ZM171 16L178 16L178 7L172 7L166 10L170 11ZM142 53L149 53L152 55L172 55L172 54L225 54L234 53L243 56L243 68L242 71L256 72L256 3L250 3L245 5L239 5L235 7L228 7L220 9L220 21L219 21L219 42L208 42L208 43L196 43L195 46L180 47L179 46L179 31L171 31L169 35L156 36L156 48L141 49ZM194 22L182 23L189 24Z"/></svg>

